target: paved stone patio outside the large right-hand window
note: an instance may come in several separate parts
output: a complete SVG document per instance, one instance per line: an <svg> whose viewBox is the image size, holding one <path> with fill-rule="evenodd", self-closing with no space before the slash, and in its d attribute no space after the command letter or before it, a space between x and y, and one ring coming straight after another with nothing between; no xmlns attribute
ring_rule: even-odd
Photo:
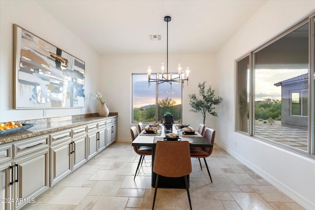
<svg viewBox="0 0 315 210"><path fill-rule="evenodd" d="M308 150L307 129L290 128L281 124L255 124L255 135L300 150Z"/></svg>

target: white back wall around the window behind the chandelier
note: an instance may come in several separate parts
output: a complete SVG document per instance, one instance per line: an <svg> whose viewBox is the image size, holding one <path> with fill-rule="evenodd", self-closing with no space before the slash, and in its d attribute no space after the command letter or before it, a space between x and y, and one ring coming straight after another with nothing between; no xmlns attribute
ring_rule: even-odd
<svg viewBox="0 0 315 210"><path fill-rule="evenodd" d="M131 73L147 73L148 66L151 66L152 72L159 73L162 62L166 66L166 49L163 55L103 56L101 91L110 112L118 112L118 141L131 141ZM169 72L177 72L177 63L181 63L182 68L190 69L189 86L185 83L183 89L183 123L197 127L203 118L200 113L189 112L189 94L198 94L198 83L203 81L216 88L216 78L212 76L215 71L214 55L169 55ZM206 124L211 119L208 116Z"/></svg>

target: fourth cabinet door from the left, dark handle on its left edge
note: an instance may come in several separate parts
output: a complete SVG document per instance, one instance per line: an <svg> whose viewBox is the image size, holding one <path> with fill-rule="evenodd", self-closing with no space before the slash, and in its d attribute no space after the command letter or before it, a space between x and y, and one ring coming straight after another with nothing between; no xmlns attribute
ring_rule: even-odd
<svg viewBox="0 0 315 210"><path fill-rule="evenodd" d="M72 140L72 170L76 169L87 161L87 136L78 137Z"/></svg>

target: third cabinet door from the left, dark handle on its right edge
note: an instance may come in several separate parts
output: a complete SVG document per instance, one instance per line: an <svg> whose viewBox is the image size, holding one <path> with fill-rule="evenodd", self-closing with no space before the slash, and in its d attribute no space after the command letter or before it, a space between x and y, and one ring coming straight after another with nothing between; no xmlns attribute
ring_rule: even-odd
<svg viewBox="0 0 315 210"><path fill-rule="evenodd" d="M50 149L50 184L54 185L71 172L71 139Z"/></svg>

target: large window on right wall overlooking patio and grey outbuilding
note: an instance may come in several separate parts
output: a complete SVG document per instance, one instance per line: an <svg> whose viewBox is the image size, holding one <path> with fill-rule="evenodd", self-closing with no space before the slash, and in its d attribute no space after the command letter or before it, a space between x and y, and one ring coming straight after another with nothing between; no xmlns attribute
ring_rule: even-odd
<svg viewBox="0 0 315 210"><path fill-rule="evenodd" d="M236 130L312 155L314 15L236 62Z"/></svg>

